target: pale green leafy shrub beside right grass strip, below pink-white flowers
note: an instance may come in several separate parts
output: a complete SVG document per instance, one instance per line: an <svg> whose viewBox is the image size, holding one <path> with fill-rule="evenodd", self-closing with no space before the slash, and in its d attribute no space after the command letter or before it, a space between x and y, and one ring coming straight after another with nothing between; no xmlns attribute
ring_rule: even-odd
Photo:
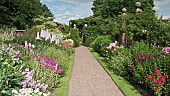
<svg viewBox="0 0 170 96"><path fill-rule="evenodd" d="M111 59L109 60L108 67L117 75L123 77L129 77L131 75L128 73L128 66L133 62L131 61L132 54L128 48L121 48L114 51L111 55ZM128 78L126 78L128 79Z"/></svg>

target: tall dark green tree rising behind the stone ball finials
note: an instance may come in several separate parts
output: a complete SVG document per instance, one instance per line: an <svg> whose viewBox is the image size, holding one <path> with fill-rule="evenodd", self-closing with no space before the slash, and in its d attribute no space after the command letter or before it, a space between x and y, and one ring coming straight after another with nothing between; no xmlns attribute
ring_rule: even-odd
<svg viewBox="0 0 170 96"><path fill-rule="evenodd" d="M128 13L135 13L135 3L139 0L94 0L93 13L94 16L102 18L118 16L122 13L122 8L126 8ZM140 0L143 11L154 13L154 0Z"/></svg>

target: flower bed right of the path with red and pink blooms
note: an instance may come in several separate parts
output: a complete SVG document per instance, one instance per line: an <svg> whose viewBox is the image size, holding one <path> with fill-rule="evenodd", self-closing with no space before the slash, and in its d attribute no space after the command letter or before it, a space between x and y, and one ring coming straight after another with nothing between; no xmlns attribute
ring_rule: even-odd
<svg viewBox="0 0 170 96"><path fill-rule="evenodd" d="M106 54L109 53L105 58L112 72L142 84L156 96L170 94L169 47L151 47L144 42L137 42L130 48L119 48L114 51L113 48L118 46L108 47L110 52L107 52L108 49L104 50Z"/></svg>

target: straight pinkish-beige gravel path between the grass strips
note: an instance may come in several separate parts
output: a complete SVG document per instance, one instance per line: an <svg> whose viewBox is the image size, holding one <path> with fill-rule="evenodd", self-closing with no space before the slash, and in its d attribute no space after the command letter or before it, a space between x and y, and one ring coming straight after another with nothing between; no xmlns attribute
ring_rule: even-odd
<svg viewBox="0 0 170 96"><path fill-rule="evenodd" d="M75 49L68 96L124 96L88 48Z"/></svg>

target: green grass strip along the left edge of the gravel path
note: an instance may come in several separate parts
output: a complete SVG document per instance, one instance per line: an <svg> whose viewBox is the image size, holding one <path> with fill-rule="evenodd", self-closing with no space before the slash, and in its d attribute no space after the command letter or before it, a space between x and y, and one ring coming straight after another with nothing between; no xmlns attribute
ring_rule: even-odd
<svg viewBox="0 0 170 96"><path fill-rule="evenodd" d="M68 96L69 80L72 71L72 64L74 62L74 54L71 54L69 59L70 60L67 63L69 65L68 70L66 71L64 77L60 78L60 83L52 96Z"/></svg>

